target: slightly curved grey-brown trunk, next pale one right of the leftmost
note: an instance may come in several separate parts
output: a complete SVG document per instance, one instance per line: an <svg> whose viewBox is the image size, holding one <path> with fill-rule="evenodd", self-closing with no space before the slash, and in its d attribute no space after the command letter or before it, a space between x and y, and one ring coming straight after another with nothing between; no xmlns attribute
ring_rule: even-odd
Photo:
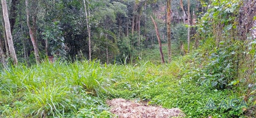
<svg viewBox="0 0 256 118"><path fill-rule="evenodd" d="M37 45L37 40L36 40L36 16L32 17L33 20L33 29L30 26L30 21L29 21L29 16L30 16L30 12L28 9L28 0L25 0L26 2L26 14L27 14L27 25L28 25L28 30L29 30L29 36L30 39L32 41L33 44L33 48L34 48L34 54L35 54L35 58L36 58L36 63L39 64L40 63L40 57L39 57L39 50L38 50L38 45Z"/></svg>

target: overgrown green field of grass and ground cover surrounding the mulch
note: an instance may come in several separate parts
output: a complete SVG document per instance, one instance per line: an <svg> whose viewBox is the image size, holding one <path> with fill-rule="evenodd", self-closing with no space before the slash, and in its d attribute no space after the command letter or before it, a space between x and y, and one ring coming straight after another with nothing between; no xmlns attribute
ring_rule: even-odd
<svg viewBox="0 0 256 118"><path fill-rule="evenodd" d="M169 64L137 60L136 64L97 61L43 62L1 71L0 117L111 118L106 99L126 98L150 105L180 108L186 117L229 118L241 109L204 109L212 98L236 98L232 90L215 90L197 82L197 69L207 58L198 52Z"/></svg>

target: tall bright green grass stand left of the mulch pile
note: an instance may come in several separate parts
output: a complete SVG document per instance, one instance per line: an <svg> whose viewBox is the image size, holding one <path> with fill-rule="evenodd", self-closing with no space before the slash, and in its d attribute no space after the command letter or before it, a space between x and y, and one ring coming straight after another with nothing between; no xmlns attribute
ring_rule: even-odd
<svg viewBox="0 0 256 118"><path fill-rule="evenodd" d="M110 73L113 69L122 70L118 68L122 67L113 68L95 61L58 60L1 70L0 117L73 117L79 109L97 109L104 102L96 104L94 99L106 97L109 86L119 79L120 71L115 75ZM104 111L100 109L98 113Z"/></svg>

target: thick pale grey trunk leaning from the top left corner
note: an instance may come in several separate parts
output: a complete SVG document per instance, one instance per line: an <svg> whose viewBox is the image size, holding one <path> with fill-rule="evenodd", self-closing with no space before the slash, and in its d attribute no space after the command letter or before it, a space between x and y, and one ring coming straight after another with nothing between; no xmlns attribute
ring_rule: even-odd
<svg viewBox="0 0 256 118"><path fill-rule="evenodd" d="M17 65L18 60L17 60L16 53L15 53L14 46L13 46L13 42L12 42L12 33L11 33L11 27L10 27L10 22L9 22L6 0L2 0L2 8L3 8L5 31L6 31L6 36L7 36L7 41L8 41L10 54L11 54L11 57L13 59L14 65Z"/></svg>

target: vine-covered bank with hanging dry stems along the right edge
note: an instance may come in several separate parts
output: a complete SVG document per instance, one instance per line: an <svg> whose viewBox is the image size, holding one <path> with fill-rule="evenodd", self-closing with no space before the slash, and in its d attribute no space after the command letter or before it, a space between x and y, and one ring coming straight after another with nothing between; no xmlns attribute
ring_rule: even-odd
<svg viewBox="0 0 256 118"><path fill-rule="evenodd" d="M244 113L255 117L255 1L212 0L208 5L196 38L209 63L196 69L194 78L212 89L235 90L249 104Z"/></svg>

